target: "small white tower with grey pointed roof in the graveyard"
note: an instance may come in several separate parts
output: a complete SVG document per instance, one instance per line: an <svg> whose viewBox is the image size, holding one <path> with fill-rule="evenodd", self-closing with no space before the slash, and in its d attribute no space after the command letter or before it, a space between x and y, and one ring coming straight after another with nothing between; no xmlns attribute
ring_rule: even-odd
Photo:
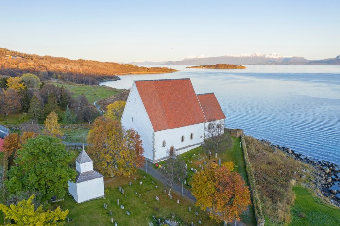
<svg viewBox="0 0 340 226"><path fill-rule="evenodd" d="M75 181L68 181L68 192L77 203L104 197L104 176L93 170L93 161L84 146L76 159L76 170L78 176Z"/></svg>

